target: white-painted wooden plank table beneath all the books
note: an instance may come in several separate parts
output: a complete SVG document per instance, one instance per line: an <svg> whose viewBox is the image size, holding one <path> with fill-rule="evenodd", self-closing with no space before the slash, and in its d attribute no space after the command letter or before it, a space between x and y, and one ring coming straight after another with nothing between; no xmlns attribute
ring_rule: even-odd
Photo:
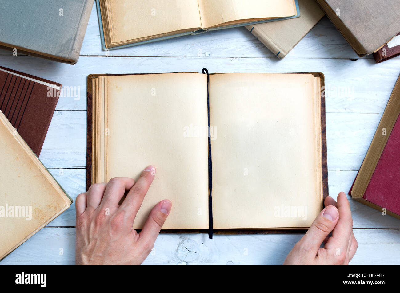
<svg viewBox="0 0 400 293"><path fill-rule="evenodd" d="M245 28L208 32L126 49L102 51L96 8L76 65L0 50L0 65L78 87L60 97L40 159L66 192L85 191L86 76L90 73L322 72L326 85L329 194L348 192L360 168L394 83L400 58L376 64L359 58L324 17L278 60ZM400 264L400 220L350 200L359 243L350 264ZM75 206L18 247L1 265L74 264ZM282 264L302 234L162 234L144 264ZM63 254L59 251L62 248ZM247 251L247 254L245 253Z"/></svg>

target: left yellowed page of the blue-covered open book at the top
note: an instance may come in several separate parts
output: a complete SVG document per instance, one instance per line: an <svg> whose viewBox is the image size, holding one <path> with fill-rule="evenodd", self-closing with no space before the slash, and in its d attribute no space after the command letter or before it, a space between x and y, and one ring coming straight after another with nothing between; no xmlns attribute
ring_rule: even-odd
<svg viewBox="0 0 400 293"><path fill-rule="evenodd" d="M105 0L113 44L201 28L197 0Z"/></svg>

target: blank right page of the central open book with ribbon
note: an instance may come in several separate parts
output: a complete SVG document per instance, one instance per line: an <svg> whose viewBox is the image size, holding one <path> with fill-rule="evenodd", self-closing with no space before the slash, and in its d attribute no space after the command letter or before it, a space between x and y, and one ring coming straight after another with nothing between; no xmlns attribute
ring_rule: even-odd
<svg viewBox="0 0 400 293"><path fill-rule="evenodd" d="M214 228L308 227L320 212L316 84L311 74L210 75Z"/></svg>

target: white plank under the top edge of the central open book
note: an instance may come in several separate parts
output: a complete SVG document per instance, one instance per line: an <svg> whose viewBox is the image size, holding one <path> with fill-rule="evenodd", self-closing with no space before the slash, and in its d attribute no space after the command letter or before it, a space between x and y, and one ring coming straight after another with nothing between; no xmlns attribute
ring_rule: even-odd
<svg viewBox="0 0 400 293"><path fill-rule="evenodd" d="M400 59L374 64L371 59L110 57L82 56L76 65L30 56L0 56L5 67L63 84L57 110L86 110L86 77L91 73L322 72L328 113L383 113L400 74Z"/></svg>

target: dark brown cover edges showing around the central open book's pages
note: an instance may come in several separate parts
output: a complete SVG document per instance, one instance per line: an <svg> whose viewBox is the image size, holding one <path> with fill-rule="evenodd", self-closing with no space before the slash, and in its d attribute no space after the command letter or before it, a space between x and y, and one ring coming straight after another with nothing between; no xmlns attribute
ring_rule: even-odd
<svg viewBox="0 0 400 293"><path fill-rule="evenodd" d="M137 73L136 73L137 74ZM144 73L151 74L151 73ZM321 147L322 147L322 192L323 199L329 195L328 191L328 157L326 150L326 117L325 117L325 76L320 72L304 72L312 74L321 79ZM86 95L87 95L87 137L86 137L86 190L92 185L92 86L93 79L99 76L114 75L134 75L134 74L90 74L87 77ZM282 234L282 233L305 233L308 228L281 228L281 229L213 229L214 234ZM163 229L160 233L208 233L207 229Z"/></svg>

